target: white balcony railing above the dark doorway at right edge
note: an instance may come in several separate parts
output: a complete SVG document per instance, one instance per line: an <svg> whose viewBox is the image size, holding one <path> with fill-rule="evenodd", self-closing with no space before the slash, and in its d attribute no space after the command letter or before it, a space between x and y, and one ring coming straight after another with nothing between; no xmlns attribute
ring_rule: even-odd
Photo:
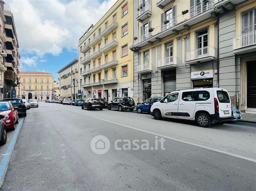
<svg viewBox="0 0 256 191"><path fill-rule="evenodd" d="M233 50L256 45L256 30L233 38Z"/></svg>

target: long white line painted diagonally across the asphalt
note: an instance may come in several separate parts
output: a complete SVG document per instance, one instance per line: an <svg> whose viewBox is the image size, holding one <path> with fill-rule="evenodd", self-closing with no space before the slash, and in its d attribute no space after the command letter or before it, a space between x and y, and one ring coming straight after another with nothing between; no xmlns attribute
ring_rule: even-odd
<svg viewBox="0 0 256 191"><path fill-rule="evenodd" d="M86 115L84 113L79 113L79 112L75 112L75 111L71 111L71 110L66 110L66 111L69 111L69 112L74 112L74 113L78 113L78 114L81 114L81 115ZM86 115L88 117L92 117L90 115ZM233 154L233 153L229 153L227 151L221 151L219 149L214 149L214 148L210 148L210 147L207 147L207 146L203 146L203 145L199 145L199 144L194 144L192 142L188 142L188 141L184 141L184 140L180 140L180 139L176 139L176 138L171 138L169 136L165 136L165 135L162 135L162 134L158 134L158 133L154 133L154 132L151 132L151 131L148 131L148 130L142 130L142 129L138 129L136 127L131 127L131 126L128 126L128 125L123 125L121 123L115 123L113 121L109 121L109 120L106 120L106 119L101 119L99 117L92 117L94 119L98 119L98 120L102 120L102 121L106 121L108 123L113 123L115 125L120 125L120 126L123 126L123 127L127 127L129 129L134 129L134 130L138 130L138 131L141 131L141 132L146 132L146 133L149 133L149 134L153 134L155 136L162 136L164 138L167 138L167 139L170 139L170 140L174 140L174 141L178 141L178 142L181 142L181 143L185 143L185 144L189 144L189 145L193 145L193 146L197 146L197 147L200 147L200 148L204 148L204 149L208 149L208 150L211 150L211 151L216 151L218 153L223 153L223 154L226 154L226 155L230 155L230 156L233 156L233 157L237 157L237 158L240 158L240 159L245 159L247 161L252 161L254 163L256 163L256 159L252 159L250 157L244 157L242 155L237 155L237 154Z"/></svg>

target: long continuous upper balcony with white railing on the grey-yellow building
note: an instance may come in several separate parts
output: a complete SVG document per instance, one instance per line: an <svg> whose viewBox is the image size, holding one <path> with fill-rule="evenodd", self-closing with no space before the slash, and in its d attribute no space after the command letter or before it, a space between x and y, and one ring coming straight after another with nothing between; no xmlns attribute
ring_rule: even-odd
<svg viewBox="0 0 256 191"><path fill-rule="evenodd" d="M189 29L190 26L200 23L212 17L214 12L213 0L208 0L206 4L200 4L191 8L187 13L173 17L165 21L160 26L154 27L152 32L142 34L132 42L130 49L136 51L137 48L144 47L154 42L159 42L171 34L178 34L180 30Z"/></svg>

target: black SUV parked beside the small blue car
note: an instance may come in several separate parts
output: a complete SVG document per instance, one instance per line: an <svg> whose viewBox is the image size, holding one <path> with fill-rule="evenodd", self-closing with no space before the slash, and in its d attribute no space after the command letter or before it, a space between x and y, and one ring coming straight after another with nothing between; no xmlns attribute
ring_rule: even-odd
<svg viewBox="0 0 256 191"><path fill-rule="evenodd" d="M131 97L117 97L108 103L108 110L118 109L119 112L123 110L130 110L132 112L134 108L135 102Z"/></svg>

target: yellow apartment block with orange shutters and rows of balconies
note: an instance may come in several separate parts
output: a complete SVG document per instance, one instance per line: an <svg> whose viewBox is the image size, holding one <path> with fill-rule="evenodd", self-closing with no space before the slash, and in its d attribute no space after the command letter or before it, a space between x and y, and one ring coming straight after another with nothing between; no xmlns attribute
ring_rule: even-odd
<svg viewBox="0 0 256 191"><path fill-rule="evenodd" d="M133 96L133 1L117 0L79 39L83 98Z"/></svg>

